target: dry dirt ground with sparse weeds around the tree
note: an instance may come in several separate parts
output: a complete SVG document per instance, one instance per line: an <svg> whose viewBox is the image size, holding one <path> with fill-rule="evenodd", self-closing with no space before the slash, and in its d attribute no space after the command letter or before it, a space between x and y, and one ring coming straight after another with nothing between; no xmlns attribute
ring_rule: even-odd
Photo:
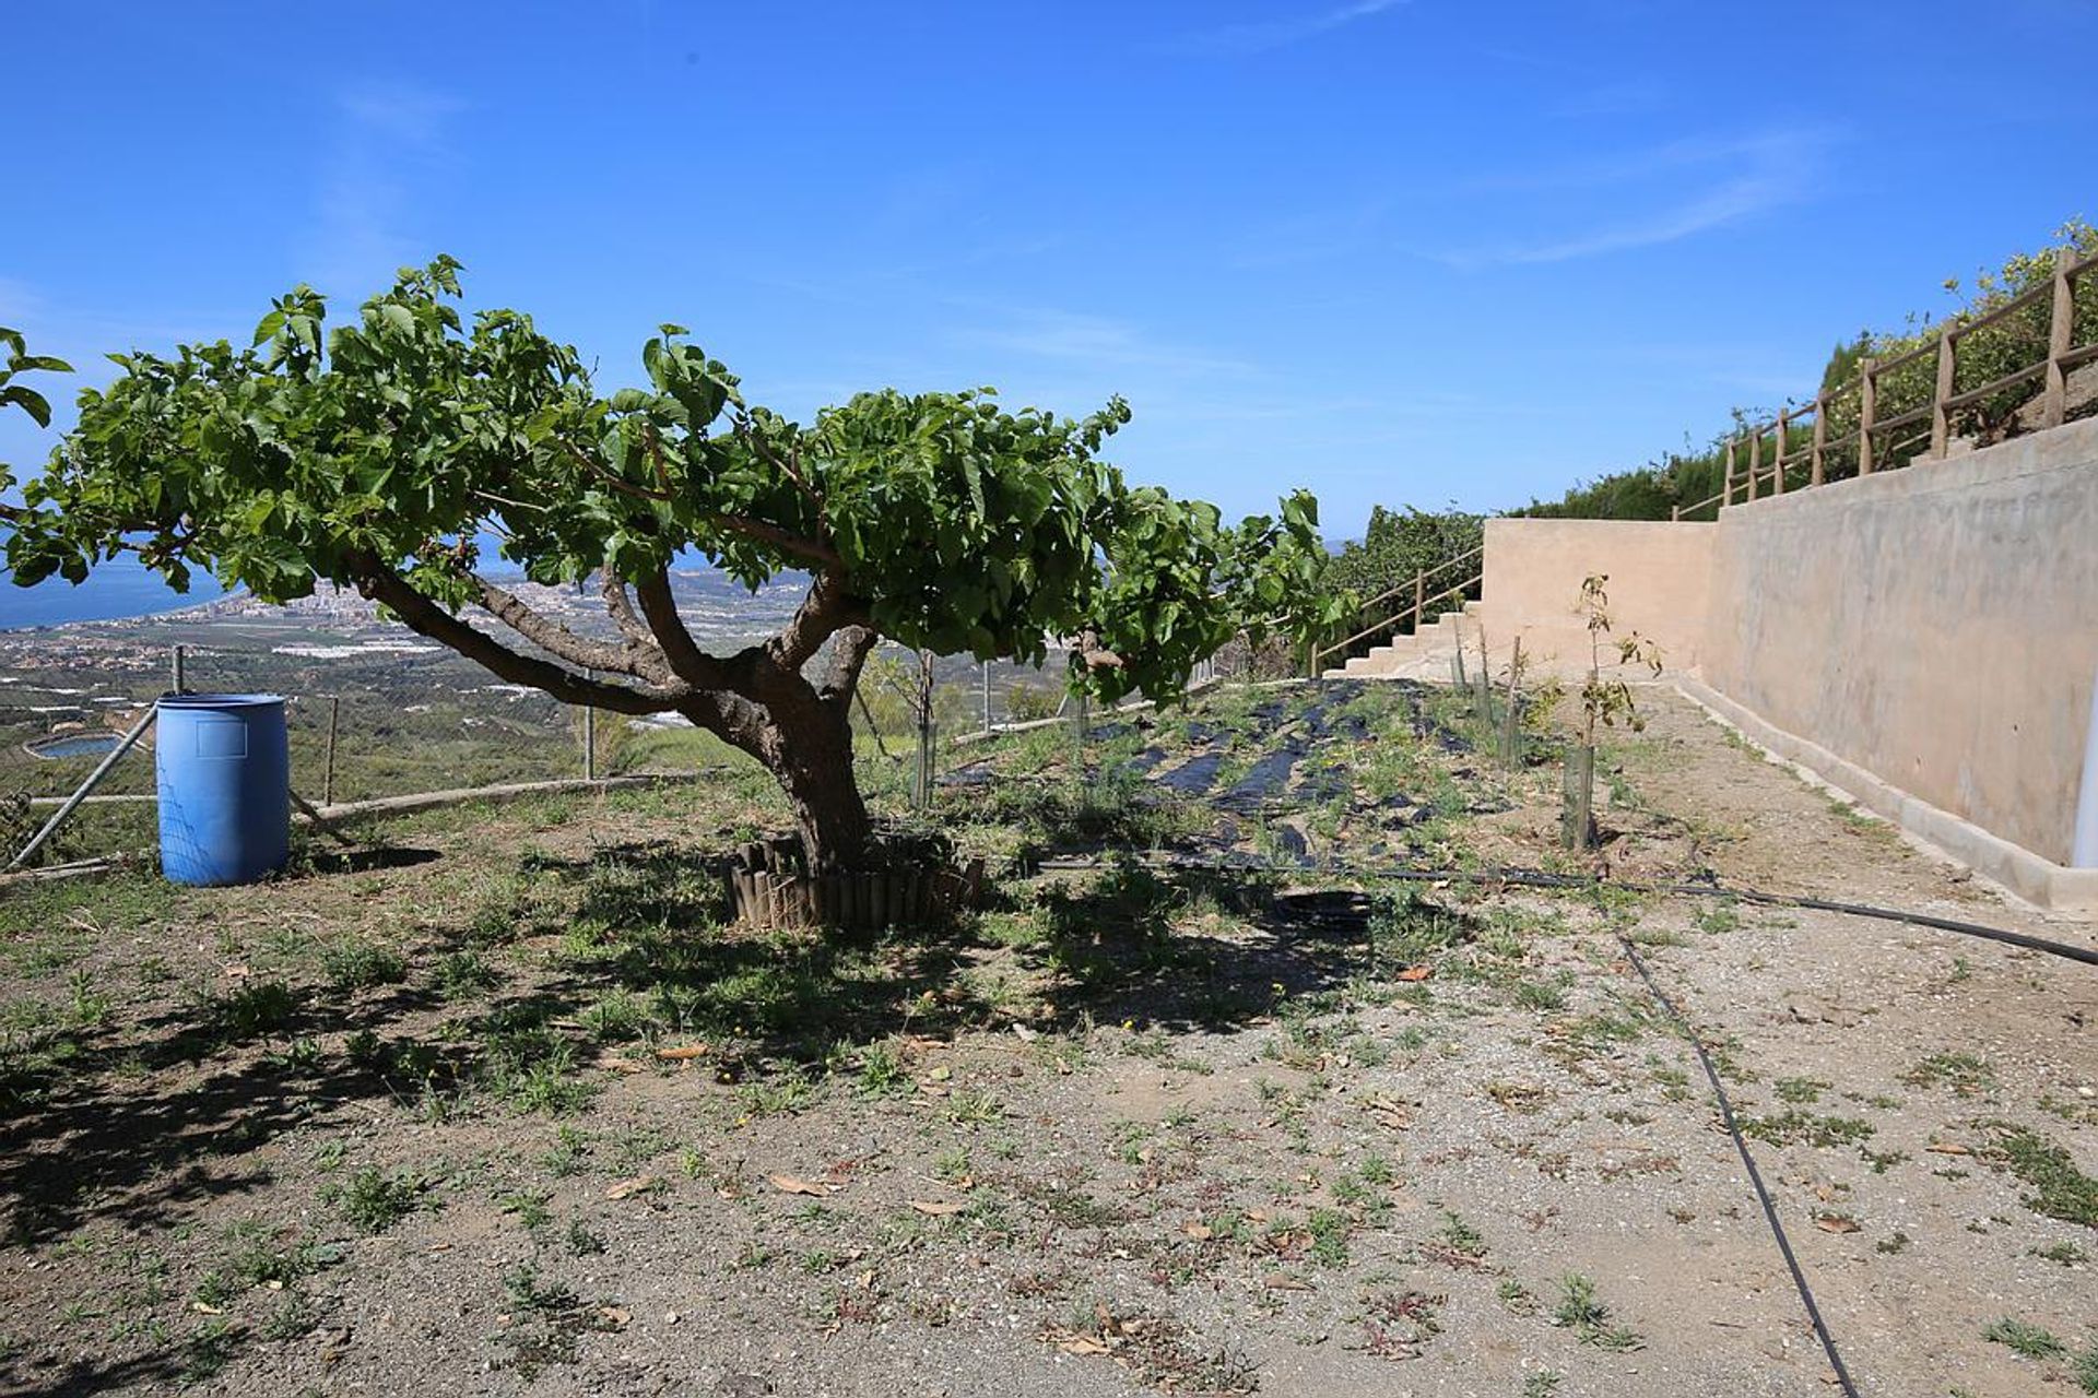
<svg viewBox="0 0 2098 1398"><path fill-rule="evenodd" d="M0 893L0 1390L2098 1392L2098 973L1666 690L1605 750L1299 685L969 750L938 933L720 924L762 778ZM875 759L869 759L871 763ZM871 771L871 782L894 782Z"/></svg>

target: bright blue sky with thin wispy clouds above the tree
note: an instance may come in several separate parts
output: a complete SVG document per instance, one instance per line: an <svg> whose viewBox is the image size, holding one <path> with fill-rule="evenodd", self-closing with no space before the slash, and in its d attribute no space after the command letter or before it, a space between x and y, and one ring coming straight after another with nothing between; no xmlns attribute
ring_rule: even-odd
<svg viewBox="0 0 2098 1398"><path fill-rule="evenodd" d="M1135 407L1133 478L1494 509L2098 218L2098 6L19 6L0 323L245 340L449 252L638 375ZM48 451L0 421L0 459Z"/></svg>

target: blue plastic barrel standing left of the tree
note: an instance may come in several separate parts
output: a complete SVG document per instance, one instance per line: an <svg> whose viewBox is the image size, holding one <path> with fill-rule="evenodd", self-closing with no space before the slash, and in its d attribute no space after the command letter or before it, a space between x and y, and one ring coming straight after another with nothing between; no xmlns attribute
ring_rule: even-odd
<svg viewBox="0 0 2098 1398"><path fill-rule="evenodd" d="M243 884L292 853L292 746L275 694L159 700L159 872L180 884Z"/></svg>

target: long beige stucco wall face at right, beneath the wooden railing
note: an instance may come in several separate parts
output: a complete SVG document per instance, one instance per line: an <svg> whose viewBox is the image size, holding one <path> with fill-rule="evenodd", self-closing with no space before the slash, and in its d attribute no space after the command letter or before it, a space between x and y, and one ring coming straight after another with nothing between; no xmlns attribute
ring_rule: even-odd
<svg viewBox="0 0 2098 1398"><path fill-rule="evenodd" d="M2098 421L1720 511L1701 667L2064 864L2098 675Z"/></svg>

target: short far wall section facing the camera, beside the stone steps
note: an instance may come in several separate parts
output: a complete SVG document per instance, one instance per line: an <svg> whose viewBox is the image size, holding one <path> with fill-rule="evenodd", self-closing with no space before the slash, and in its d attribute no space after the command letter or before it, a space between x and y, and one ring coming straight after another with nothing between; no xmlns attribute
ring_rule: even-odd
<svg viewBox="0 0 2098 1398"><path fill-rule="evenodd" d="M1588 667L1580 585L1609 574L1615 635L1636 631L1662 648L1662 664L1691 669L1704 650L1716 524L1639 520L1487 520L1479 610L1496 662L1519 635L1540 669Z"/></svg>

